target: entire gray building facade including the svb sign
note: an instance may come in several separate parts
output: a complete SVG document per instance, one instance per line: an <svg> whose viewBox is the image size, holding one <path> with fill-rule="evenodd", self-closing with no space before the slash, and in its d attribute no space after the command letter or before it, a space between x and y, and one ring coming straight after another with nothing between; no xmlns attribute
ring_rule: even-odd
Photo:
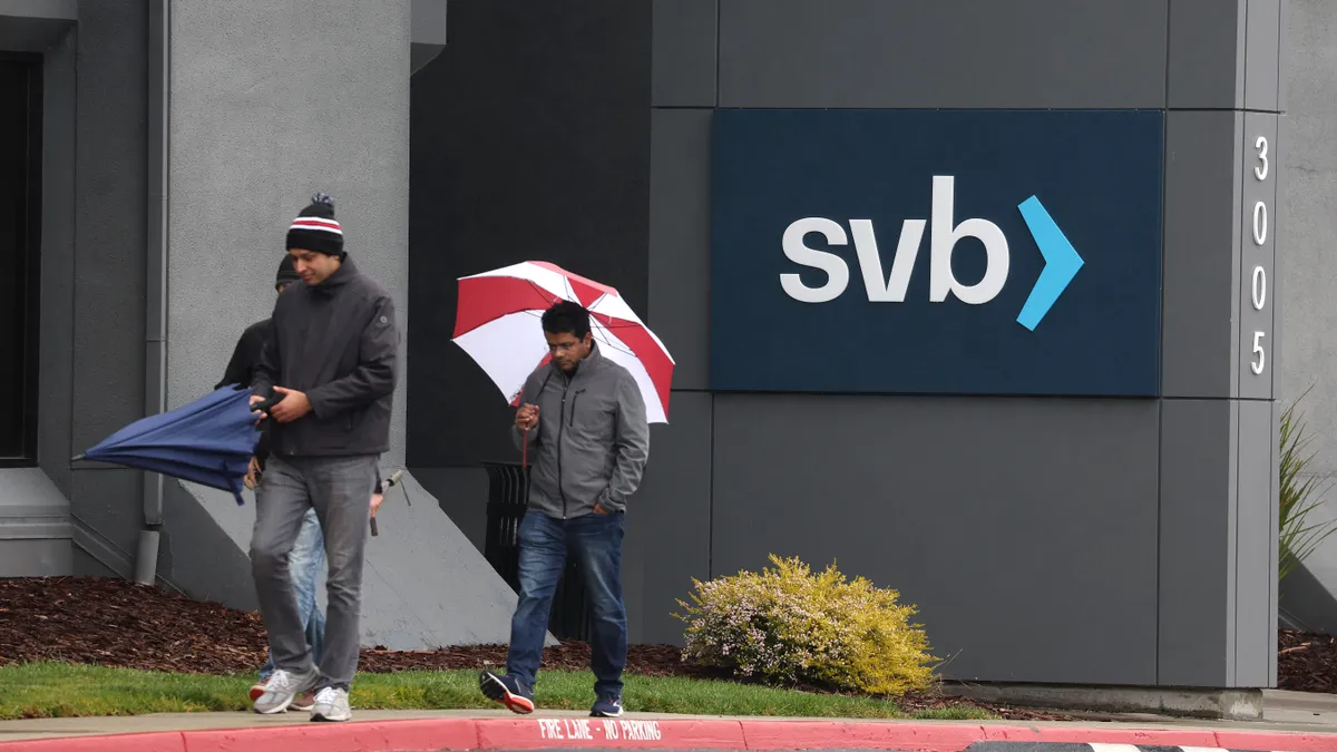
<svg viewBox="0 0 1337 752"><path fill-rule="evenodd" d="M681 641L693 578L798 555L900 590L953 678L1270 686L1278 416L1325 376L1333 13L0 1L41 84L5 126L40 132L7 261L40 296L0 574L254 602L249 506L68 458L207 391L326 190L408 333L385 464L414 504L369 546L368 642L505 640L480 463L517 459L511 412L448 340L459 277L547 260L677 361L632 640ZM1328 193L1292 202L1305 174Z"/></svg>

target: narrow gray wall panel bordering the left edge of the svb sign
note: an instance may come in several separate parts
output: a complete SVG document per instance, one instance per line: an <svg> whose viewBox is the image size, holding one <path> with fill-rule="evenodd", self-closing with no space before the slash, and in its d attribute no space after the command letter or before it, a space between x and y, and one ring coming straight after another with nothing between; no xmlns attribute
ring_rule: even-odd
<svg viewBox="0 0 1337 752"><path fill-rule="evenodd" d="M646 324L674 356L674 388L705 389L710 381L710 110L655 110L650 128Z"/></svg>

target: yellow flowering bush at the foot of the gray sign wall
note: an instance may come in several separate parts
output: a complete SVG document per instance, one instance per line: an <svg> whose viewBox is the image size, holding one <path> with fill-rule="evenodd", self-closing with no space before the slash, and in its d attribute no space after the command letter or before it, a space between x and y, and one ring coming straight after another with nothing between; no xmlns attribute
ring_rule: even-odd
<svg viewBox="0 0 1337 752"><path fill-rule="evenodd" d="M898 593L846 582L834 563L810 574L798 558L770 561L761 574L693 579L693 603L674 614L687 622L687 657L767 684L898 696L933 682L937 658Z"/></svg>

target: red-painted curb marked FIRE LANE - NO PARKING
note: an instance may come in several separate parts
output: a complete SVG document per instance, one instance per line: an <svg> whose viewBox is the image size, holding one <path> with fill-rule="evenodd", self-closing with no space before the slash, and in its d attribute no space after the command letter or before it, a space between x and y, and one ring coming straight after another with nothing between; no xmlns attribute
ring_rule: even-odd
<svg viewBox="0 0 1337 752"><path fill-rule="evenodd" d="M444 752L475 749L898 749L964 752L976 743L1103 744L1332 752L1337 733L1135 729L969 723L725 719L432 719L74 736L0 743L3 752ZM1088 747L1096 745L1096 747ZM1016 751L1021 744L979 745ZM1132 747L1123 748L1132 752ZM1055 752L1060 752L1055 749Z"/></svg>

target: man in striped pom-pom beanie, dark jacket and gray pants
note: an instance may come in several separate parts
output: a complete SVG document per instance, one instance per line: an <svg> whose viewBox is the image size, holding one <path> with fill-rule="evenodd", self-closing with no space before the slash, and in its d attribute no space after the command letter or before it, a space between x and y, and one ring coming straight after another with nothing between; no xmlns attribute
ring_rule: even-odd
<svg viewBox="0 0 1337 752"><path fill-rule="evenodd" d="M278 296L253 381L253 404L281 397L263 417L269 460L257 491L251 571L274 673L254 701L281 713L316 689L312 720L352 717L362 553L377 458L389 450L398 326L389 293L344 252L334 201L316 194L287 230L301 285ZM287 555L302 515L316 508L325 534L326 630L312 661L293 595Z"/></svg>

